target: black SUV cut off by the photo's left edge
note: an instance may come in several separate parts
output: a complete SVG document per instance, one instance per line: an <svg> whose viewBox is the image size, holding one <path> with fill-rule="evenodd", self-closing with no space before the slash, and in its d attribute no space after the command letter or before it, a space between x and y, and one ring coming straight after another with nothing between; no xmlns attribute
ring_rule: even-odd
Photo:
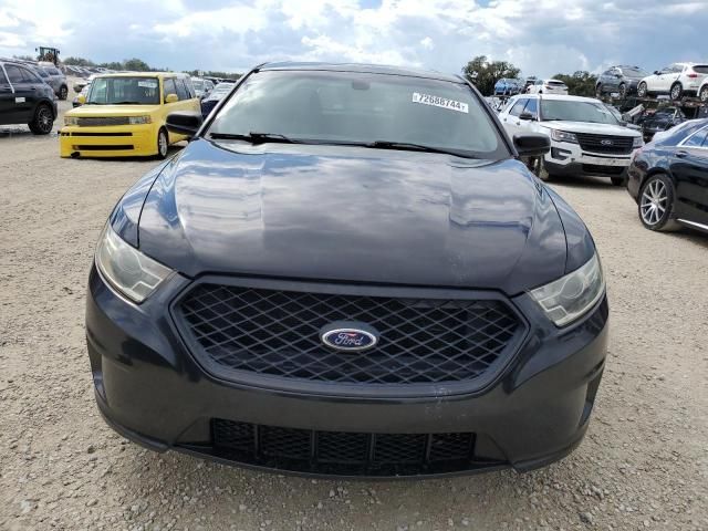
<svg viewBox="0 0 708 531"><path fill-rule="evenodd" d="M56 119L56 96L31 66L0 60L0 125L27 124L46 135Z"/></svg>

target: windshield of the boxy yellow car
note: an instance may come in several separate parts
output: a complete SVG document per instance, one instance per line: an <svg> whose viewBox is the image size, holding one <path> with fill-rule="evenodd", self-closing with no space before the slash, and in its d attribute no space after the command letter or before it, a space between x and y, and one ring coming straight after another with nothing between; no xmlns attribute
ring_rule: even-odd
<svg viewBox="0 0 708 531"><path fill-rule="evenodd" d="M96 77L91 83L87 104L159 105L157 77Z"/></svg>

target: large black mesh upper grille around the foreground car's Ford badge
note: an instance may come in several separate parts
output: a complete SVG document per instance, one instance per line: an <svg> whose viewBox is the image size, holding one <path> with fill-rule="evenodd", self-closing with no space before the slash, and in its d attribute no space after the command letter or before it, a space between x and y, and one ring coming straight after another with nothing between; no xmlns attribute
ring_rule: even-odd
<svg viewBox="0 0 708 531"><path fill-rule="evenodd" d="M430 300L197 284L176 306L195 356L217 376L233 371L342 384L468 382L493 372L524 333L498 300ZM376 346L341 352L320 330L356 321Z"/></svg>

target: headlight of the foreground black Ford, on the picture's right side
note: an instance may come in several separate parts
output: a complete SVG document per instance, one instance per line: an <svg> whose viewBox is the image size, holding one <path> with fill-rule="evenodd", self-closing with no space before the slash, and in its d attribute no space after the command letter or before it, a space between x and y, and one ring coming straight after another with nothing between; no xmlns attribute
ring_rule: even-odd
<svg viewBox="0 0 708 531"><path fill-rule="evenodd" d="M604 292L605 280L595 253L572 273L531 291L531 296L556 326L565 326L590 311Z"/></svg>

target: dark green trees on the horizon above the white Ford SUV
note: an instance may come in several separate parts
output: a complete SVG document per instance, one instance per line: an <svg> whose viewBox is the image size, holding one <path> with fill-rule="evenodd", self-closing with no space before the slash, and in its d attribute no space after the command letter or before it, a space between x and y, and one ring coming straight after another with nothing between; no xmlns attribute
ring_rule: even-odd
<svg viewBox="0 0 708 531"><path fill-rule="evenodd" d="M517 79L521 74L508 61L490 61L487 55L478 55L462 66L462 74L472 82L485 96L494 93L494 83L502 77ZM568 93L574 96L594 96L597 76L587 71L579 70L572 74L555 74L554 80L568 85Z"/></svg>

